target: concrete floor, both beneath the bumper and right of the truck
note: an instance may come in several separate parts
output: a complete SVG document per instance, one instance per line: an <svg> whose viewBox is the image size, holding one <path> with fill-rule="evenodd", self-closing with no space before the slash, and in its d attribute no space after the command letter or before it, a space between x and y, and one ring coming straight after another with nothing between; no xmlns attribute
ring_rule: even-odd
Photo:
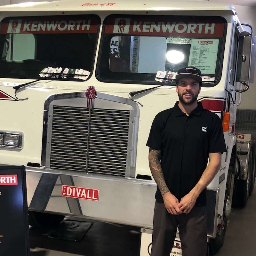
<svg viewBox="0 0 256 256"><path fill-rule="evenodd" d="M81 241L66 241L49 238L52 230L32 227L31 256L139 256L139 231L136 227L96 221ZM256 187L244 208L232 209L225 243L216 256L256 255L255 231Z"/></svg>

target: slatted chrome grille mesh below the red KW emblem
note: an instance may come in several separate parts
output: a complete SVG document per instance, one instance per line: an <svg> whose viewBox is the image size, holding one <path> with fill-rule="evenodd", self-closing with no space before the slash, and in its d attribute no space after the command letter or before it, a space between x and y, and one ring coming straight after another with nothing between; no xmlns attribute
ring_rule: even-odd
<svg viewBox="0 0 256 256"><path fill-rule="evenodd" d="M130 111L53 106L50 168L125 176Z"/></svg>

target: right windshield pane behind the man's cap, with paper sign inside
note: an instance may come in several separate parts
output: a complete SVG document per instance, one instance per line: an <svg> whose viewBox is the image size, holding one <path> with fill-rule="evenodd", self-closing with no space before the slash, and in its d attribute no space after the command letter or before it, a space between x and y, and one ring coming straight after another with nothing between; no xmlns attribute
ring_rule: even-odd
<svg viewBox="0 0 256 256"><path fill-rule="evenodd" d="M194 66L204 86L220 79L227 22L202 16L108 16L98 76L102 81L159 83Z"/></svg>

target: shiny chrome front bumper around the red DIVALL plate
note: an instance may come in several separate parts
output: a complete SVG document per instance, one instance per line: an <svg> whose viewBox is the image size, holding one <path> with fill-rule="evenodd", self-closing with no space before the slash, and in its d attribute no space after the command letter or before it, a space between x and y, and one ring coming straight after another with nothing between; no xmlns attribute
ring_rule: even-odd
<svg viewBox="0 0 256 256"><path fill-rule="evenodd" d="M26 168L28 210L152 228L154 182ZM62 186L99 190L98 201L62 196Z"/></svg>

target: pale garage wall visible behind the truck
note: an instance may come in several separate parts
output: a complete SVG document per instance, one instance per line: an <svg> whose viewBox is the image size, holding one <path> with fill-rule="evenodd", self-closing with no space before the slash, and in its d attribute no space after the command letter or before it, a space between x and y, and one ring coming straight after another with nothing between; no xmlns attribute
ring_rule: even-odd
<svg viewBox="0 0 256 256"><path fill-rule="evenodd" d="M30 0L0 0L0 5L6 4L18 4L22 2L29 2ZM52 2L53 0L48 0ZM209 1L209 0L208 0ZM43 2L42 0L31 0L31 2ZM225 2L225 0L224 0ZM243 0L241 0L241 3ZM250 24L255 29L256 35L256 7L235 5L237 15L241 23ZM241 109L254 109L256 110L256 70L254 83L250 84L250 89L247 92L242 93L242 102L239 108Z"/></svg>

